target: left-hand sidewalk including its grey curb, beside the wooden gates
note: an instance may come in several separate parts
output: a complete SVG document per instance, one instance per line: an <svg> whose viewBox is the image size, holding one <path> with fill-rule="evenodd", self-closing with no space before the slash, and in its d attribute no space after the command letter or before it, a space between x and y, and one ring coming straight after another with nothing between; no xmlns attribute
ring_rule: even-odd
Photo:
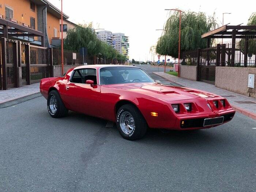
<svg viewBox="0 0 256 192"><path fill-rule="evenodd" d="M41 96L39 85L40 83L34 83L19 88L0 90L0 108L15 105L28 99Z"/></svg>

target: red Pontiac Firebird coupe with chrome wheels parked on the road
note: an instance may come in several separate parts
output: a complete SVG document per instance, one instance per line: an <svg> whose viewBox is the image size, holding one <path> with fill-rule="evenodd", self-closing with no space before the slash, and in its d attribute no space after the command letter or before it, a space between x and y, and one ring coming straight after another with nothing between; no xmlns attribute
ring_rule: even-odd
<svg viewBox="0 0 256 192"><path fill-rule="evenodd" d="M50 116L68 110L116 122L123 138L142 138L147 128L193 130L230 121L235 111L221 96L156 83L141 68L84 65L41 80Z"/></svg>

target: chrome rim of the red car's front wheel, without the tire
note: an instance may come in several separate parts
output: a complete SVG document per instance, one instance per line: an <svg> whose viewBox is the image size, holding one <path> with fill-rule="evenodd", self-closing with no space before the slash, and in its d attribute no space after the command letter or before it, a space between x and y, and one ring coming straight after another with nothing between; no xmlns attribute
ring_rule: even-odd
<svg viewBox="0 0 256 192"><path fill-rule="evenodd" d="M120 127L122 131L127 135L133 132L135 129L135 122L131 113L125 111L120 115Z"/></svg>

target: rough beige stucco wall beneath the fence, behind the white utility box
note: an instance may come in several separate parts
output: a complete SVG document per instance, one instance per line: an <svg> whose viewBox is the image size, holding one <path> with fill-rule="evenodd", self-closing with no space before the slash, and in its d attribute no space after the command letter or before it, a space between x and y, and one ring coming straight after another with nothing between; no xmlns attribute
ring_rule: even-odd
<svg viewBox="0 0 256 192"><path fill-rule="evenodd" d="M248 74L256 74L256 68L216 67L215 86L246 95L248 89ZM256 98L256 80L254 81L254 89L249 88L249 96Z"/></svg>

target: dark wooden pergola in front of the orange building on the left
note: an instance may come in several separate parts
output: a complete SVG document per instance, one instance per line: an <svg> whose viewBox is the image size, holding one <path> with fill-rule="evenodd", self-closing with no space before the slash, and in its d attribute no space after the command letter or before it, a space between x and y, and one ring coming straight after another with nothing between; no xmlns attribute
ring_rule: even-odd
<svg viewBox="0 0 256 192"><path fill-rule="evenodd" d="M44 42L44 34L41 31L34 30L33 27L26 26L25 23L20 23L15 19L0 17L0 37L41 37L41 42ZM44 46L44 43L41 43Z"/></svg>

